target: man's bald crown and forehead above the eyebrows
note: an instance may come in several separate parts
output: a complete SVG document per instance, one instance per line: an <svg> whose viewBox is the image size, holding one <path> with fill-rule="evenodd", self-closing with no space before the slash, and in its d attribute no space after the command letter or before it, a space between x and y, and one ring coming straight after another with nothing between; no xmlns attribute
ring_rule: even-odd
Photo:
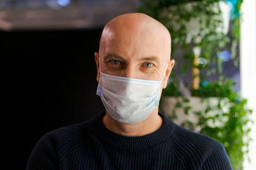
<svg viewBox="0 0 256 170"><path fill-rule="evenodd" d="M150 43L163 54L161 57L170 60L171 37L168 29L154 18L143 13L127 13L110 20L102 31L100 54L108 46L116 45L115 41L118 45L123 42L129 45L132 43L137 46L143 44L148 46Z"/></svg>

